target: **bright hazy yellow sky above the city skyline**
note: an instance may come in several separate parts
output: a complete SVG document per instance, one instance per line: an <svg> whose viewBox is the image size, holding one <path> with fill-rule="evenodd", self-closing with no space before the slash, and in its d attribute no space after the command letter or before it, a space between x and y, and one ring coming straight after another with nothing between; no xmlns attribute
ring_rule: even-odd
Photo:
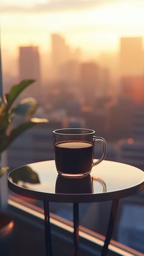
<svg viewBox="0 0 144 256"><path fill-rule="evenodd" d="M94 55L144 33L143 0L1 0L0 12L2 48L13 54L29 44L48 51L52 32Z"/></svg>

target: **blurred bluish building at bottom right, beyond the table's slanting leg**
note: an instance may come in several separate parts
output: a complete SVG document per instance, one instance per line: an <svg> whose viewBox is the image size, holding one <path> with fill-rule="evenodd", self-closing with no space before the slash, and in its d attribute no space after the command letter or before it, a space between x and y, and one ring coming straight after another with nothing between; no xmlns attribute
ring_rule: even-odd
<svg viewBox="0 0 144 256"><path fill-rule="evenodd" d="M118 223L117 238L120 243L142 252L135 255L143 255L143 191L135 197L127 197L126 200L121 208L122 214Z"/></svg>

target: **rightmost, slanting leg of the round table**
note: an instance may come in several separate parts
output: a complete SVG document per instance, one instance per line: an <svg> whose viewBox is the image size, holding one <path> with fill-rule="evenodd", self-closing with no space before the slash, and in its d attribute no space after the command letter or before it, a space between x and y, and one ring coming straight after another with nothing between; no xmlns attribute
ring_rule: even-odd
<svg viewBox="0 0 144 256"><path fill-rule="evenodd" d="M117 217L118 202L119 202L118 199L115 199L115 200L112 201L112 208L111 208L111 211L110 211L109 225L108 225L108 228L107 228L106 240L104 241L104 246L103 246L101 256L106 256L107 255L108 246L109 246L109 243L110 243L110 239L112 237L113 227L114 227L114 224L115 224L115 219Z"/></svg>

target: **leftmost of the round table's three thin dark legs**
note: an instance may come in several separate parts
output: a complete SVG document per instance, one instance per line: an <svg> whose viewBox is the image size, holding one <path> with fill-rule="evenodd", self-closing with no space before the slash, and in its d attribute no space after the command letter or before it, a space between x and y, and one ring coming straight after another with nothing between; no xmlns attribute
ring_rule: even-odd
<svg viewBox="0 0 144 256"><path fill-rule="evenodd" d="M49 222L49 202L43 201L44 214L45 214L45 244L46 244L46 256L52 256L51 246L51 228Z"/></svg>

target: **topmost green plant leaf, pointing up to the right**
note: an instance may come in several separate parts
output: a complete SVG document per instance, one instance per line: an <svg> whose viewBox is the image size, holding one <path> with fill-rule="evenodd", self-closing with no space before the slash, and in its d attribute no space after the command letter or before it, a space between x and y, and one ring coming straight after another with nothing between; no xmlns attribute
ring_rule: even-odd
<svg viewBox="0 0 144 256"><path fill-rule="evenodd" d="M15 99L18 97L18 95L20 95L21 92L23 92L23 90L29 86L30 84L32 84L32 82L34 82L34 80L23 80L20 82L20 84L16 84L15 86L13 86L10 89L9 93L6 93L6 99L7 99L7 109L10 108L10 106L12 106L13 101L15 101Z"/></svg>

